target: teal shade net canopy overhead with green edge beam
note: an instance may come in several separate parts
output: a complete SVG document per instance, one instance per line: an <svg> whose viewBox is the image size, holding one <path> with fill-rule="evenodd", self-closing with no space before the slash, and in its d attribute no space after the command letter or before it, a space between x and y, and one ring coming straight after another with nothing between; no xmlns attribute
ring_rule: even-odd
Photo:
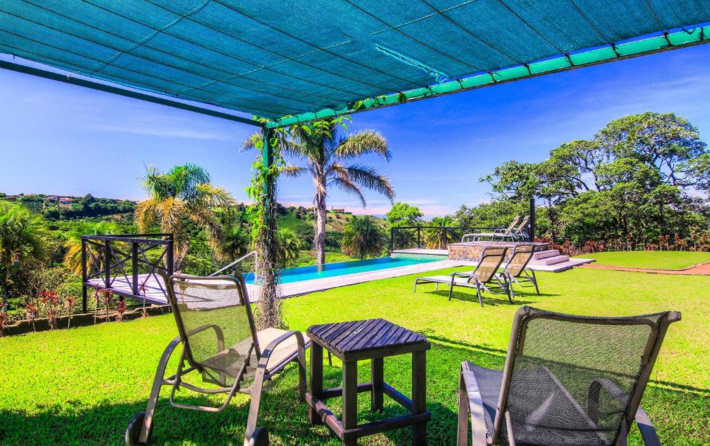
<svg viewBox="0 0 710 446"><path fill-rule="evenodd" d="M710 38L702 0L0 0L0 52L283 126Z"/></svg>

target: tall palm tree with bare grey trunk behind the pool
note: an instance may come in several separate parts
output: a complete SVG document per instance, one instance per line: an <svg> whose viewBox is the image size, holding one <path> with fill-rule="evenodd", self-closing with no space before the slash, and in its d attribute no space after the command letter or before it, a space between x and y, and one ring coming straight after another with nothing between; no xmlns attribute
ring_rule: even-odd
<svg viewBox="0 0 710 446"><path fill-rule="evenodd" d="M374 154L391 159L387 140L375 130L362 130L349 135L339 135L341 121L315 121L307 125L291 126L288 137L281 138L281 151L290 157L305 161L304 166L287 166L283 173L290 177L308 174L315 184L313 203L316 208L316 226L313 237L316 264L325 263L325 223L327 218L326 197L329 186L335 186L360 200L366 206L362 189L371 189L390 201L395 190L390 180L373 167L349 164L357 157ZM255 147L261 133L255 133L244 141L243 149Z"/></svg>

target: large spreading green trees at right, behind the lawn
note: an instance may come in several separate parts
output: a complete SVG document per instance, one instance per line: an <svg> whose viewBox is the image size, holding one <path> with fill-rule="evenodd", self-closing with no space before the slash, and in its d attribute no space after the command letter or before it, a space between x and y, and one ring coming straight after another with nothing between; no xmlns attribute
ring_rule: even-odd
<svg viewBox="0 0 710 446"><path fill-rule="evenodd" d="M506 162L481 181L498 202L542 203L538 235L638 243L706 230L701 195L710 191L709 159L689 121L648 112L611 121L591 140L562 144L539 164Z"/></svg>

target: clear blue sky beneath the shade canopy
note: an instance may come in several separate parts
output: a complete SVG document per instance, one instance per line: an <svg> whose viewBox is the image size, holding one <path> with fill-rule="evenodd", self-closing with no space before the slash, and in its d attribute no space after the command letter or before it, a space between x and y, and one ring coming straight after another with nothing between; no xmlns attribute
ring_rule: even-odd
<svg viewBox="0 0 710 446"><path fill-rule="evenodd" d="M1 57L0 57L1 58ZM537 162L550 149L591 138L608 121L673 111L710 135L710 45L576 69L353 116L349 130L372 128L389 141L390 163L363 162L391 178L398 200L425 216L486 201L478 178L508 160ZM146 165L194 162L212 182L246 201L253 153L240 153L252 129L197 113L0 70L0 191L142 199ZM312 203L310 179L284 179L279 201ZM329 206L383 214L340 191Z"/></svg>

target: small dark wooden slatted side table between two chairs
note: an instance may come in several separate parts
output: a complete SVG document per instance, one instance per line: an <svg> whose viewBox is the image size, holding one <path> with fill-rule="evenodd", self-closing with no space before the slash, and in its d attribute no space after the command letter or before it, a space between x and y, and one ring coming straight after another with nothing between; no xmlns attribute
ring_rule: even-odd
<svg viewBox="0 0 710 446"><path fill-rule="evenodd" d="M312 424L324 422L342 440L343 445L355 445L359 437L413 425L413 443L427 442L427 338L384 319L311 325L307 330L310 347L310 406L308 418ZM323 349L343 362L342 387L323 389ZM407 398L384 381L384 358L412 354L412 398ZM358 384L357 362L371 359L371 381ZM371 408L382 411L383 394L400 403L410 413L387 420L357 424L357 394L371 392ZM342 420L325 405L324 400L343 397Z"/></svg>

